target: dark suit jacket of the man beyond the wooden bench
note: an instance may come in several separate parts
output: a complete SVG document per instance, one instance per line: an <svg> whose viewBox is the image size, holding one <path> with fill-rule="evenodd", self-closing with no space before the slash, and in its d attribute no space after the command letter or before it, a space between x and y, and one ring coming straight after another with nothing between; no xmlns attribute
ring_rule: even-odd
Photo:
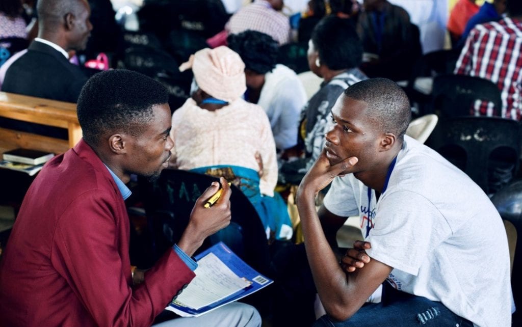
<svg viewBox="0 0 522 327"><path fill-rule="evenodd" d="M38 98L76 102L88 77L53 47L33 41L26 54L7 69L2 91ZM0 126L51 137L67 138L62 128L2 119Z"/></svg>

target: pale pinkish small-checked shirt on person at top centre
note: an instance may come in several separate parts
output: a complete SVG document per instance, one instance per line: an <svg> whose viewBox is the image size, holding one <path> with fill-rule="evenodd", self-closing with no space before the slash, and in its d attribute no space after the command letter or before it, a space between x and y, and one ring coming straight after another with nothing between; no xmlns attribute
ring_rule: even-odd
<svg viewBox="0 0 522 327"><path fill-rule="evenodd" d="M254 30L270 35L279 45L290 42L290 19L279 13L265 0L241 8L228 21L225 29L230 34Z"/></svg>

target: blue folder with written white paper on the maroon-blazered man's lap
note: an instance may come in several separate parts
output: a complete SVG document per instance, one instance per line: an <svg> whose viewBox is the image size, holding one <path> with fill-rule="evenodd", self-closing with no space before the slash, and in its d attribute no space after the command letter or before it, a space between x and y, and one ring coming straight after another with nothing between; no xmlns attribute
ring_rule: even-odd
<svg viewBox="0 0 522 327"><path fill-rule="evenodd" d="M222 242L195 257L196 277L166 308L181 317L197 317L257 292L272 283Z"/></svg>

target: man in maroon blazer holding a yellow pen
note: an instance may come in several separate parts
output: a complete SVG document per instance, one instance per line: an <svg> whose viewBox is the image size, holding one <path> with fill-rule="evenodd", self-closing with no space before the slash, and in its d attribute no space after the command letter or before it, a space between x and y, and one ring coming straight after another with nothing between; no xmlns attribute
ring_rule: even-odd
<svg viewBox="0 0 522 327"><path fill-rule="evenodd" d="M78 100L84 138L33 181L0 263L2 326L146 326L194 278L190 258L230 222L230 188L211 208L198 199L179 243L133 287L124 199L131 174L157 177L173 142L167 90L129 70L94 75ZM211 128L209 126L209 128ZM187 321L188 320L188 321ZM259 326L233 304L172 326Z"/></svg>

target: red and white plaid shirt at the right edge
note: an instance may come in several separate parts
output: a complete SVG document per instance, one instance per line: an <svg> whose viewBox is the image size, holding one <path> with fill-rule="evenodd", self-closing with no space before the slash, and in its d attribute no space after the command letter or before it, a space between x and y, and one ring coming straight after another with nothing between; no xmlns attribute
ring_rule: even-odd
<svg viewBox="0 0 522 327"><path fill-rule="evenodd" d="M477 25L469 33L455 74L477 76L496 83L502 94L501 116L522 119L522 21L504 18ZM476 116L492 116L493 104L477 100Z"/></svg>

